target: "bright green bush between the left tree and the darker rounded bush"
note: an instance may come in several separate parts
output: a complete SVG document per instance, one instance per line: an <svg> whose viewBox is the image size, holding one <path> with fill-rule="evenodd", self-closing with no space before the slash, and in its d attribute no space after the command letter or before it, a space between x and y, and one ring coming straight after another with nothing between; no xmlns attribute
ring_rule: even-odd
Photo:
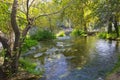
<svg viewBox="0 0 120 80"><path fill-rule="evenodd" d="M28 49L30 49L32 46L37 45L38 42L36 40L32 40L30 38L25 39L24 44L22 46L22 52L26 52Z"/></svg>

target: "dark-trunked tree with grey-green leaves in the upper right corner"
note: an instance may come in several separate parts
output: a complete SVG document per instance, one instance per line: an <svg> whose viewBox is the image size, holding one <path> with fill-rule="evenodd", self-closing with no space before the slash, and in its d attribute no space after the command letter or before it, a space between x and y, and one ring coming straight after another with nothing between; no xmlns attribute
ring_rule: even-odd
<svg viewBox="0 0 120 80"><path fill-rule="evenodd" d="M93 1L93 14L97 16L100 24L108 25L108 33L112 33L112 27L115 28L117 37L119 37L119 17L120 17L119 0L98 0ZM112 25L114 24L114 26Z"/></svg>

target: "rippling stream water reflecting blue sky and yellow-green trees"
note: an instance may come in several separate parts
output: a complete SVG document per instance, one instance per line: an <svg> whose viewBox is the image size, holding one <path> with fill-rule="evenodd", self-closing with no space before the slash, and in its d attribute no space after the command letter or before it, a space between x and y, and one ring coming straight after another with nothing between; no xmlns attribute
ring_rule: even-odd
<svg viewBox="0 0 120 80"><path fill-rule="evenodd" d="M119 42L95 37L59 38L40 45L34 57L45 70L42 80L104 80L120 53Z"/></svg>

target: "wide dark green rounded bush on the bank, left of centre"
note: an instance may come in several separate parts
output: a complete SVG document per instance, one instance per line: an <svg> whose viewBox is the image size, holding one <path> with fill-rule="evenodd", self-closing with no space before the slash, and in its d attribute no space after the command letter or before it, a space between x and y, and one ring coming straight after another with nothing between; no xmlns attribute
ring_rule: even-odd
<svg viewBox="0 0 120 80"><path fill-rule="evenodd" d="M49 30L38 30L36 34L30 36L31 39L42 41L42 40L50 40L55 39L55 34L50 32Z"/></svg>

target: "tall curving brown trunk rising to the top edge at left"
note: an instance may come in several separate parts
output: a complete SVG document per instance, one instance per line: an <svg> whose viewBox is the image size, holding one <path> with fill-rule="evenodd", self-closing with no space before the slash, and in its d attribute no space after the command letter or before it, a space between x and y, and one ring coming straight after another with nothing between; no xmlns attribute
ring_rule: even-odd
<svg viewBox="0 0 120 80"><path fill-rule="evenodd" d="M17 13L17 6L18 6L18 0L14 0L13 6L12 6L12 13L11 13L11 25L12 29L15 33L15 41L14 41L14 47L13 47L13 57L12 57L12 63L11 63L11 69L12 73L16 73L18 71L18 60L19 57L19 48L20 48L20 31L17 25L16 21L16 13Z"/></svg>

